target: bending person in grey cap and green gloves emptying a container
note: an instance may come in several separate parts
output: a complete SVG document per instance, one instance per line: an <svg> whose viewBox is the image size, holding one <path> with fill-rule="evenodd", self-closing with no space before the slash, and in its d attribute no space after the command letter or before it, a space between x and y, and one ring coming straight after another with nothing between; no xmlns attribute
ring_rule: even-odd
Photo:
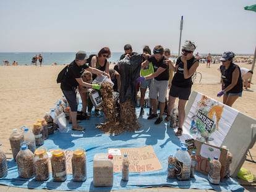
<svg viewBox="0 0 256 192"><path fill-rule="evenodd" d="M75 54L75 60L72 61L67 70L64 74L63 80L61 81L61 90L64 96L69 102L70 112L69 112L69 123L72 123L72 130L83 131L83 128L77 121L77 88L79 85L85 86L87 88L93 88L96 90L100 90L100 84L90 84L82 79L82 73L86 69L93 74L102 74L102 75L109 75L101 70L89 67L85 64L86 60L88 59L88 55L85 51L78 51Z"/></svg>

